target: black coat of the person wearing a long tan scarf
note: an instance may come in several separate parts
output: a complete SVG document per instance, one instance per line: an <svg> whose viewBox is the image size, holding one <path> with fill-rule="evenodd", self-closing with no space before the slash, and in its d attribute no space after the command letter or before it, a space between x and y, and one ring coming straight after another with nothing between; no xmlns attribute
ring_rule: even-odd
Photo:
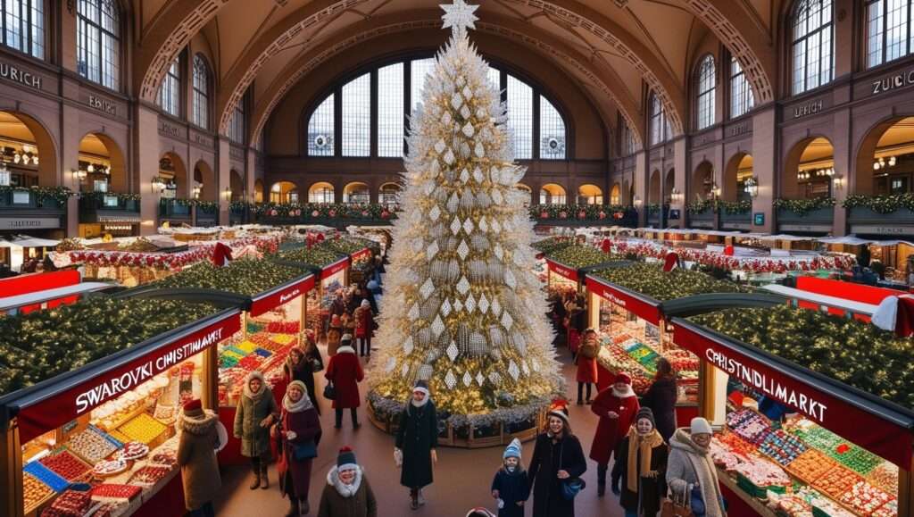
<svg viewBox="0 0 914 517"><path fill-rule="evenodd" d="M643 477L641 451L638 451L638 458L635 458L639 476L638 491L633 492L628 488L628 457L631 436L631 433L629 433L629 436L625 436L616 450L616 461L612 466L611 486L620 486L619 481L622 480L619 503L625 510L637 512L638 515L656 515L657 512L660 512L660 499L666 495L667 447L665 443L662 443L651 450L651 470L657 472L656 477Z"/></svg>

